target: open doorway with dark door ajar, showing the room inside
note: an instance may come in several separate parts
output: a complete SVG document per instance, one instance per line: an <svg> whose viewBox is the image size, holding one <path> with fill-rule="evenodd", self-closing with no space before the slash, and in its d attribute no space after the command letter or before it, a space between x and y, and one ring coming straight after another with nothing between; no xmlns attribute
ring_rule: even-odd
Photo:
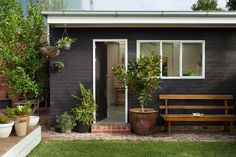
<svg viewBox="0 0 236 157"><path fill-rule="evenodd" d="M112 66L127 66L126 40L94 40L94 96L97 122L127 122L127 89L114 79Z"/></svg>

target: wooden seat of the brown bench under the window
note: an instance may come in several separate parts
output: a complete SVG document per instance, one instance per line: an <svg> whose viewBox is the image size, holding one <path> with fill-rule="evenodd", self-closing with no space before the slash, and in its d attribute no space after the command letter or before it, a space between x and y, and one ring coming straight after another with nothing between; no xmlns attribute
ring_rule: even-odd
<svg viewBox="0 0 236 157"><path fill-rule="evenodd" d="M236 115L233 114L209 114L204 116L192 116L192 114L162 114L164 120L172 122L181 121L211 121L211 122L232 122L236 121Z"/></svg>

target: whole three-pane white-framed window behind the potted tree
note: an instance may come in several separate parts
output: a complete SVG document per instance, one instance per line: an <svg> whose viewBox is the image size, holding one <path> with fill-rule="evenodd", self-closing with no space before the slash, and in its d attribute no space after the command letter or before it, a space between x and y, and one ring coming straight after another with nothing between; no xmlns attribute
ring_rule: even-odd
<svg viewBox="0 0 236 157"><path fill-rule="evenodd" d="M159 53L161 77L167 79L203 79L205 77L205 42L193 41L137 41L137 57L150 52Z"/></svg>

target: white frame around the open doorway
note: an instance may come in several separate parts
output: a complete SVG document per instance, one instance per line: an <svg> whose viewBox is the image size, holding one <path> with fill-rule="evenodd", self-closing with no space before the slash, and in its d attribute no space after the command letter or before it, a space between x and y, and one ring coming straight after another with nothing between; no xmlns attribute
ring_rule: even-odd
<svg viewBox="0 0 236 157"><path fill-rule="evenodd" d="M125 68L128 68L128 39L93 39L93 97L96 101L96 42L124 42L125 43ZM96 120L96 112L94 112ZM125 86L125 123L128 123L128 88Z"/></svg>

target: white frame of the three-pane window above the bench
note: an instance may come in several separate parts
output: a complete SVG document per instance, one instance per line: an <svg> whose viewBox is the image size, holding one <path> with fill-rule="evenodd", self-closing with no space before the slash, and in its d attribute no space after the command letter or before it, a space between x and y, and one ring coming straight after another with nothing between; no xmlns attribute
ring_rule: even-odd
<svg viewBox="0 0 236 157"><path fill-rule="evenodd" d="M140 44L141 43L149 43L149 42L159 42L160 43L160 69L161 79L205 79L205 40L137 40L137 53L136 53L136 59L139 59L140 57ZM173 43L173 42L179 42L180 43L180 58L179 58L179 76L162 76L162 44L163 43ZM183 44L185 43L201 43L202 44L202 76L183 76L182 73L182 61L183 61Z"/></svg>

